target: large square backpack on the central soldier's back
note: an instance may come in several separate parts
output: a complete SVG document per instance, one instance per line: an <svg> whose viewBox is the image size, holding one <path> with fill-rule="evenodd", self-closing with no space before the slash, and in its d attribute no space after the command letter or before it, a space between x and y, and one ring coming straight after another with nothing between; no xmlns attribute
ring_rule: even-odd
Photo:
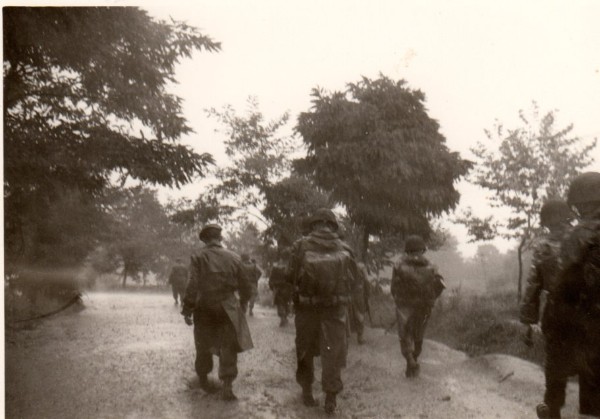
<svg viewBox="0 0 600 419"><path fill-rule="evenodd" d="M300 293L306 296L347 296L351 281L350 261L347 250L327 252L306 250L300 264Z"/></svg>

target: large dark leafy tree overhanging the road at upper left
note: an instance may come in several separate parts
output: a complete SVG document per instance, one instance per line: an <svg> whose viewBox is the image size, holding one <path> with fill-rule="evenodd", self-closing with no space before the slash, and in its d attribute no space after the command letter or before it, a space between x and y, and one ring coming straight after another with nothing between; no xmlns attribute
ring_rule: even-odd
<svg viewBox="0 0 600 419"><path fill-rule="evenodd" d="M168 93L181 57L220 45L132 7L6 7L4 191L7 259L31 248L57 196L118 179L179 186L212 162Z"/></svg>

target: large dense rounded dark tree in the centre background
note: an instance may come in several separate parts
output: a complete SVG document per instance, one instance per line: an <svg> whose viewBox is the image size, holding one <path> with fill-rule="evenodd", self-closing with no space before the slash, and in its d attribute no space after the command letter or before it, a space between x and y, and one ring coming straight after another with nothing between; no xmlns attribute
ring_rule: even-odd
<svg viewBox="0 0 600 419"><path fill-rule="evenodd" d="M429 219L458 203L454 183L470 163L446 147L425 95L380 76L312 96L296 127L308 153L295 167L362 228L363 259L373 234L428 237Z"/></svg>

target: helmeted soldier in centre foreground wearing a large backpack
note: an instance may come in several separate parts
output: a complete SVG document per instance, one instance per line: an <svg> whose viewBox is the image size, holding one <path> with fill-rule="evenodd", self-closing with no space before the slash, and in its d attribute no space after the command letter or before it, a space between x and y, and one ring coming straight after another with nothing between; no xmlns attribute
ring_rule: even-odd
<svg viewBox="0 0 600 419"><path fill-rule="evenodd" d="M294 243L288 266L296 307L296 381L302 387L304 404L316 406L312 393L314 357L320 355L325 412L333 414L336 396L343 388L347 306L358 274L352 251L336 234L338 223L331 210L317 210L310 227L310 234Z"/></svg>

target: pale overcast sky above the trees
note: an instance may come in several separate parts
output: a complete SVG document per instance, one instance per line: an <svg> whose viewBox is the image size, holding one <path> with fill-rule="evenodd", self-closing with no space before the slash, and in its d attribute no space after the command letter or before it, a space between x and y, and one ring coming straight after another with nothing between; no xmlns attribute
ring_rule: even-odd
<svg viewBox="0 0 600 419"><path fill-rule="evenodd" d="M19 4L19 3L11 3ZM46 2L38 4L52 4ZM91 3L61 2L61 5ZM173 92L195 133L183 142L222 161L222 136L205 109L249 96L270 119L288 111L291 124L310 108L315 87L342 90L362 76L404 79L426 95L429 115L452 151L484 141L497 119L515 126L536 101L557 111L557 126L600 137L600 2L596 0L196 0L112 1L137 5L159 19L185 21L221 42L218 53L195 53L177 68ZM600 150L592 167L600 170ZM201 182L163 196L195 199ZM462 182L459 209L487 215L484 194ZM445 222L458 236L460 227ZM496 242L502 250L508 246Z"/></svg>

